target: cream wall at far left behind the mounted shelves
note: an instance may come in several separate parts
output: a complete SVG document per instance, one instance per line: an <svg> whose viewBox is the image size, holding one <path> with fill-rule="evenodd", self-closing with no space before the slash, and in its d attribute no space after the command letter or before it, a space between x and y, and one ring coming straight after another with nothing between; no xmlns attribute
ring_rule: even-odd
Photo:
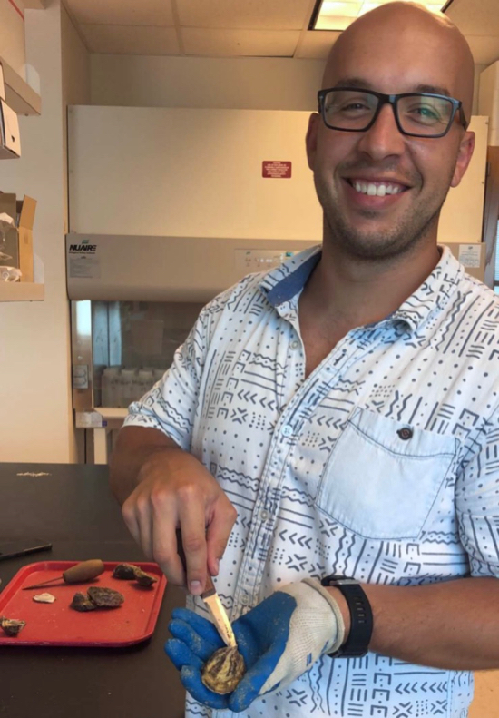
<svg viewBox="0 0 499 718"><path fill-rule="evenodd" d="M20 118L23 156L0 162L0 189L38 200L34 251L45 273L43 302L0 303L1 461L75 458L64 270L62 33L68 28L62 27L60 0L47 5L25 12L26 56L40 75L42 115ZM80 56L80 65L81 47L67 37L64 44ZM66 75L66 87L73 86L72 76Z"/></svg>

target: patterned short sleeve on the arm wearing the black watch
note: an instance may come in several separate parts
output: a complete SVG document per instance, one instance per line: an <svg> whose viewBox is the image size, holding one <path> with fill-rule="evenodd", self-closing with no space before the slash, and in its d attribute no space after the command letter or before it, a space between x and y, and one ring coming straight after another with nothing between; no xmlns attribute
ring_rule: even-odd
<svg viewBox="0 0 499 718"><path fill-rule="evenodd" d="M499 577L499 409L484 422L476 447L457 477L459 533L471 574Z"/></svg>

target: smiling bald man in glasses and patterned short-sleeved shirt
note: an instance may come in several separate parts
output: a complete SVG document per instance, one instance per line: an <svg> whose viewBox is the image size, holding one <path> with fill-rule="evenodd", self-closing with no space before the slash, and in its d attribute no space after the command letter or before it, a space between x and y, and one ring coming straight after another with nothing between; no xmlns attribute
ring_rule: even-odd
<svg viewBox="0 0 499 718"><path fill-rule="evenodd" d="M436 244L473 76L417 5L351 25L307 134L322 251L211 302L132 405L113 489L193 595L167 647L188 716L463 718L499 667L499 301ZM228 696L201 683L207 570L247 664Z"/></svg>

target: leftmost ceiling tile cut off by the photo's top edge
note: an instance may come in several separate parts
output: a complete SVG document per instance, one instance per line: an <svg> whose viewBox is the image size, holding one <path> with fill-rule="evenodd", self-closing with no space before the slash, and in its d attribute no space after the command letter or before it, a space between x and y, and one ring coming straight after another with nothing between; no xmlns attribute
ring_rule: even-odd
<svg viewBox="0 0 499 718"><path fill-rule="evenodd" d="M79 23L172 27L171 0L64 0Z"/></svg>

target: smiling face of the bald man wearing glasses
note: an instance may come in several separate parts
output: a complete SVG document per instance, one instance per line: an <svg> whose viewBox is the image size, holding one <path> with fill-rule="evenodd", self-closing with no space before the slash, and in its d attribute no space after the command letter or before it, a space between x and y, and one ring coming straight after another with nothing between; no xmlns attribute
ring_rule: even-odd
<svg viewBox="0 0 499 718"><path fill-rule="evenodd" d="M458 93L458 63L427 28L396 33L386 24L354 34L345 45L327 87L360 82L386 94L417 92L422 85L435 93ZM473 133L465 133L456 118L444 137L408 137L386 104L362 133L328 129L313 115L307 148L332 241L356 257L382 259L419 240L435 240L446 193L459 183L471 157Z"/></svg>

